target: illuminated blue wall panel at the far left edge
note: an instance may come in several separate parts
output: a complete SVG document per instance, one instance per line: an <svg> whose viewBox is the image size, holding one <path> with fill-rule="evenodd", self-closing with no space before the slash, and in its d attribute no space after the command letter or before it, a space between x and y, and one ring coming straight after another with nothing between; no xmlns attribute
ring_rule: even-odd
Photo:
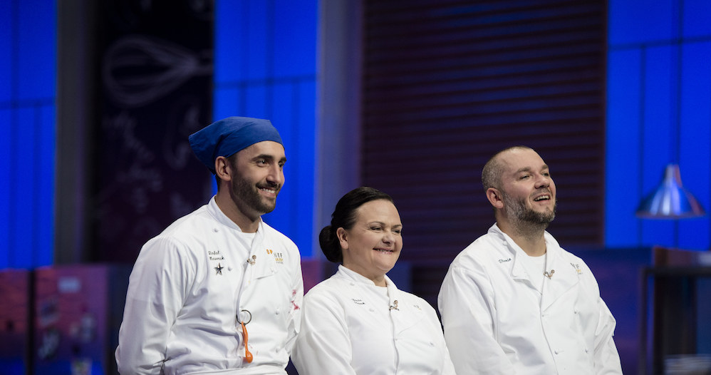
<svg viewBox="0 0 711 375"><path fill-rule="evenodd" d="M53 260L56 4L0 1L0 269Z"/></svg>

